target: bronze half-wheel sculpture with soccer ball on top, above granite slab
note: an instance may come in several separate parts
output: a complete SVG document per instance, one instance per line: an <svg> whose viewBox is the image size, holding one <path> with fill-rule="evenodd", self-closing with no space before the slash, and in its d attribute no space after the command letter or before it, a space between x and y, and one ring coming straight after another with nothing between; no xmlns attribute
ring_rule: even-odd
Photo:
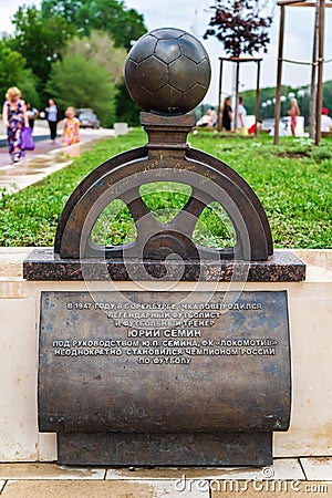
<svg viewBox="0 0 332 498"><path fill-rule="evenodd" d="M115 156L94 169L73 191L60 218L54 251L61 259L102 258L165 260L267 260L273 252L266 212L250 186L221 160L186 143L195 126L190 113L204 98L209 81L208 55L198 40L178 29L142 37L129 52L125 80L133 100L145 112L144 147ZM160 224L141 197L139 187L155 181L187 184L191 194L167 225ZM91 239L101 212L115 199L128 207L137 230L134 242L101 246ZM231 248L211 249L193 241L206 206L218 201L236 232Z"/></svg>

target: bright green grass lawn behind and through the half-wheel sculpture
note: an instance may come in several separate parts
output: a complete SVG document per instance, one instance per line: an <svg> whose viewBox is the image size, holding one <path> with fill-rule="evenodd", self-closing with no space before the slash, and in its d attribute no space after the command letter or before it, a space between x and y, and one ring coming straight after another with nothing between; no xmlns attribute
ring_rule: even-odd
<svg viewBox="0 0 332 498"><path fill-rule="evenodd" d="M304 138L283 138L279 147L273 147L272 138L267 136L220 138L205 132L191 135L189 141L193 147L219 157L246 178L267 211L276 247L332 247L329 138L321 147ZM0 200L0 245L52 246L58 219L76 185L105 159L145 143L145 133L136 129L97 144L37 185L11 196L4 190ZM164 187L146 185L141 194L155 216L167 222L184 206L190 189L178 184ZM134 237L131 214L122 201L112 203L93 231L93 240L103 243L121 243ZM232 228L219 205L205 209L194 238L212 247L234 242Z"/></svg>

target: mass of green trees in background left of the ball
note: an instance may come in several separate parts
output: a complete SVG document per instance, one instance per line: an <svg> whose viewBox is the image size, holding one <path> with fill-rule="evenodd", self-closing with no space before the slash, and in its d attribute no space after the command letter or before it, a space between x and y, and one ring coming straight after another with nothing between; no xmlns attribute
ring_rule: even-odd
<svg viewBox="0 0 332 498"><path fill-rule="evenodd" d="M61 107L93 107L104 125L117 110L138 122L123 82L127 50L146 32L136 10L123 0L42 0L19 7L12 23L14 34L0 39L3 97L18 85L34 106L54 96Z"/></svg>

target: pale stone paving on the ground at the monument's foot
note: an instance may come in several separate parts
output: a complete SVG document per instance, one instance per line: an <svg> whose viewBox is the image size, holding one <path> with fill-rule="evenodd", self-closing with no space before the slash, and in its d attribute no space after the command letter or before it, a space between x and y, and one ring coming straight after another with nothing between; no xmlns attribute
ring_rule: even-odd
<svg viewBox="0 0 332 498"><path fill-rule="evenodd" d="M1 498L332 497L332 457L261 468L70 468L0 464Z"/></svg>

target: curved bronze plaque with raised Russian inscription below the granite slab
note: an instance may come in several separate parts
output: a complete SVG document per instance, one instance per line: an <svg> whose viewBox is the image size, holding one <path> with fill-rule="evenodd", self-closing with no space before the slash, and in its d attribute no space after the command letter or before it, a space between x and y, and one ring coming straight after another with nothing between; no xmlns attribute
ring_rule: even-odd
<svg viewBox="0 0 332 498"><path fill-rule="evenodd" d="M42 292L42 432L272 433L290 403L286 291Z"/></svg>

